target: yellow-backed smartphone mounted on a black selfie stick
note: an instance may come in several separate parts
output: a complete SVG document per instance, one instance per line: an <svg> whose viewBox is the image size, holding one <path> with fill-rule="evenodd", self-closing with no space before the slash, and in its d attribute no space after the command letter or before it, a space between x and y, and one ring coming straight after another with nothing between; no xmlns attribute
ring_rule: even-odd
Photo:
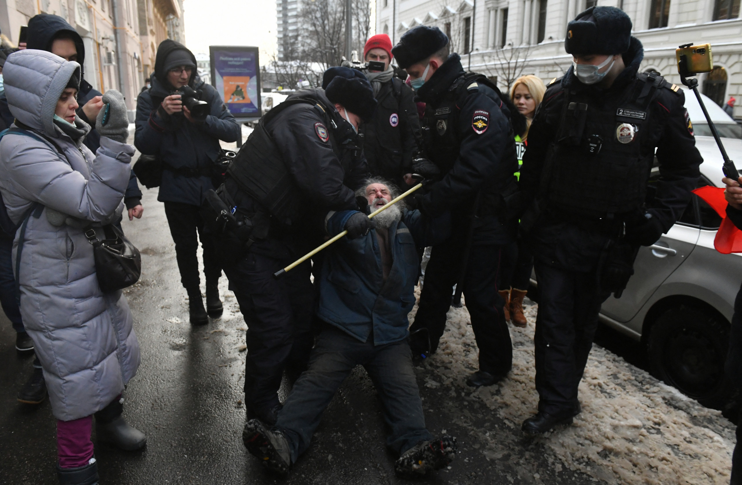
<svg viewBox="0 0 742 485"><path fill-rule="evenodd" d="M735 163L726 154L724 145L721 144L721 139L719 138L719 132L716 131L716 126L711 121L711 116L706 111L706 106L703 105L703 99L700 98L700 93L698 92L698 79L687 79L687 76L695 76L698 73L710 73L712 71L714 68L714 59L711 55L711 44L683 44L675 49L675 59L677 59L677 72L680 74L680 82L683 82L684 85L693 90L696 99L698 99L700 109L703 110L703 116L706 116L706 121L709 122L709 129L712 135L714 135L716 145L718 145L721 157L724 160L722 168L724 175L737 181L740 178L740 173L737 171Z"/></svg>

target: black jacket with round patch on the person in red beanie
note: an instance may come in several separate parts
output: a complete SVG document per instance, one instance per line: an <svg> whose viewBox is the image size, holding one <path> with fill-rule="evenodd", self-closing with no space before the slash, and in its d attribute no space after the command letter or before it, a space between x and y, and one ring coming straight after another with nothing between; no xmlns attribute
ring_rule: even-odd
<svg viewBox="0 0 742 485"><path fill-rule="evenodd" d="M404 174L412 171L418 152L420 120L415 95L401 79L393 77L381 84L373 119L361 125L364 155L372 175L384 177L404 187Z"/></svg>

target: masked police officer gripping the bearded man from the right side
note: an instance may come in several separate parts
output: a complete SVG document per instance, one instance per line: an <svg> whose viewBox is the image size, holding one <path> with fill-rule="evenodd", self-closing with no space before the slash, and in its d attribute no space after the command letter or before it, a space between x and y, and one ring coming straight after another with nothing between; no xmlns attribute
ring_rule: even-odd
<svg viewBox="0 0 742 485"><path fill-rule="evenodd" d="M464 72L437 27L409 30L392 52L417 100L426 103L424 149L433 163L423 160L413 171L437 182L416 197L418 208L436 217L451 207L454 221L449 240L433 246L410 346L418 356L436 351L458 283L479 346L479 371L467 383L490 386L508 374L513 357L496 278L502 245L513 232L503 202L515 191L518 170L510 117L525 119L485 76Z"/></svg>

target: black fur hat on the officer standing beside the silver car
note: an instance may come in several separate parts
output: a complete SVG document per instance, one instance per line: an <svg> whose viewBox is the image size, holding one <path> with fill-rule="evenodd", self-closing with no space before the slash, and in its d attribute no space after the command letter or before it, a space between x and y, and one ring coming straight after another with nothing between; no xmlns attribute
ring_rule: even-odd
<svg viewBox="0 0 742 485"><path fill-rule="evenodd" d="M568 54L623 54L631 40L631 19L616 7L590 7L567 24Z"/></svg>

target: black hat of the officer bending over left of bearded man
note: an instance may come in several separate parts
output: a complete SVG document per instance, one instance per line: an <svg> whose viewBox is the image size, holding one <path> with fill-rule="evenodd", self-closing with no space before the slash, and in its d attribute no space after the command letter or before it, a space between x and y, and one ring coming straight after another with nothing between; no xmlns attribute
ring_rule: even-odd
<svg viewBox="0 0 742 485"><path fill-rule="evenodd" d="M330 102L343 105L351 113L369 122L376 109L373 88L360 70L330 67L322 76L322 88Z"/></svg>

